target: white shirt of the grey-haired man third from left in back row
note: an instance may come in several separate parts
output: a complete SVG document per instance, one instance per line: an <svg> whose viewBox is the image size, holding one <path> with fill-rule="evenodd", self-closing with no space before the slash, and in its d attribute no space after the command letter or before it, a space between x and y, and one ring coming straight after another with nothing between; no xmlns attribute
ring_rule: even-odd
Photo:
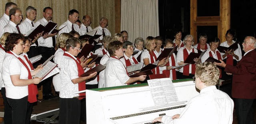
<svg viewBox="0 0 256 124"><path fill-rule="evenodd" d="M32 29L32 24L31 24L31 20L29 20L28 18L26 18L23 22L20 23L19 28L20 28L20 33L26 35L28 33L28 31L30 31ZM37 25L32 22L34 25L34 28L37 27ZM36 46L36 43L32 44L31 46Z"/></svg>

